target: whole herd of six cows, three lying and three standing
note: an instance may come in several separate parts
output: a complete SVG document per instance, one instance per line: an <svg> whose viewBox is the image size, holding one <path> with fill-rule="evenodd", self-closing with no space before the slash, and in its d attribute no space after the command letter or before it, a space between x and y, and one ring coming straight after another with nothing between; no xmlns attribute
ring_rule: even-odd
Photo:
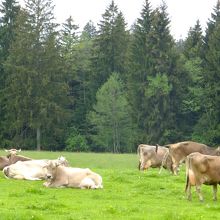
<svg viewBox="0 0 220 220"><path fill-rule="evenodd" d="M45 187L74 187L80 189L103 188L102 177L88 168L69 167L64 157L54 160L34 160L18 154L18 150L6 150L0 157L0 169L6 178L45 180ZM201 185L213 186L213 199L217 200L217 184L220 184L220 147L212 148L193 141L166 146L140 144L139 170L150 167L168 169L178 175L179 166L186 163L186 194L191 200L191 186L195 186L203 201Z"/></svg>

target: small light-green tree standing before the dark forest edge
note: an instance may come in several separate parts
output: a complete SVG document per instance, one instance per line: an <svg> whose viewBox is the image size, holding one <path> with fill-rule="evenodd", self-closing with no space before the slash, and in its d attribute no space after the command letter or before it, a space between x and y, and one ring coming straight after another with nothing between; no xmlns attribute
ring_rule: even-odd
<svg viewBox="0 0 220 220"><path fill-rule="evenodd" d="M131 118L123 84L113 73L96 94L97 103L88 115L93 125L92 140L99 150L117 152L131 151Z"/></svg>

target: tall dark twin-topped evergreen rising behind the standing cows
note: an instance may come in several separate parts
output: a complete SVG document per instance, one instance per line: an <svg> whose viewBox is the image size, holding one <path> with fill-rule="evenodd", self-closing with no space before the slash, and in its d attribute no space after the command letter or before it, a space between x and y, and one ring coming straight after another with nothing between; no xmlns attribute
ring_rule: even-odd
<svg viewBox="0 0 220 220"><path fill-rule="evenodd" d="M182 79L169 22L164 3L152 11L146 0L132 36L128 87L139 143L165 143L179 138L175 115Z"/></svg>

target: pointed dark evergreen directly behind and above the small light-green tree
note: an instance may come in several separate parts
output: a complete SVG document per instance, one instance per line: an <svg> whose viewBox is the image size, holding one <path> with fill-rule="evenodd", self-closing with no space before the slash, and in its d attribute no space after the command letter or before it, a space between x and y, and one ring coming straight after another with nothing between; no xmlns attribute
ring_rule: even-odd
<svg viewBox="0 0 220 220"><path fill-rule="evenodd" d="M128 32L126 23L114 1L111 2L100 21L93 57L93 95L112 72L125 78Z"/></svg>

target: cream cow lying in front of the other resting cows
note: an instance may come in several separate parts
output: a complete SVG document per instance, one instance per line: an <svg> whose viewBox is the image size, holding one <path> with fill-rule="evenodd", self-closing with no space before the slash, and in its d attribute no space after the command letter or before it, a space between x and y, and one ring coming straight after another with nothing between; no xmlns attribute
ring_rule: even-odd
<svg viewBox="0 0 220 220"><path fill-rule="evenodd" d="M60 166L59 161L48 161L45 168L47 170L47 181L43 184L45 187L103 188L102 177L88 168L64 167Z"/></svg>

